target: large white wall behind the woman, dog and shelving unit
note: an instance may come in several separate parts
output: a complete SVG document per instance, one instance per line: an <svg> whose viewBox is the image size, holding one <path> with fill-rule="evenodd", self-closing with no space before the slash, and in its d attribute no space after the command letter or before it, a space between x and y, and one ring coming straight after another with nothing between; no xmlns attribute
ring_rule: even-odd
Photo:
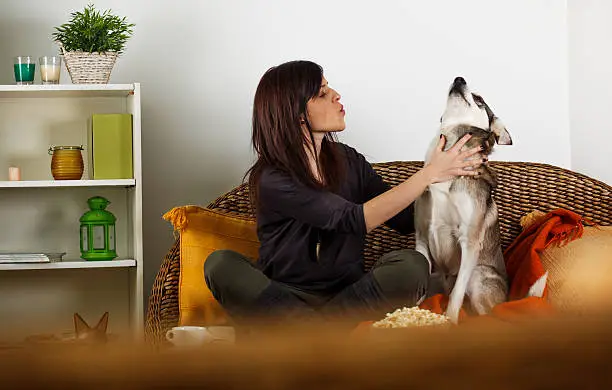
<svg viewBox="0 0 612 390"><path fill-rule="evenodd" d="M0 83L13 82L12 56L54 53L53 26L85 4L0 2ZM96 6L136 23L111 82L143 84L147 290L172 243L162 214L207 204L239 184L252 159L257 82L286 60L323 65L347 110L341 140L372 162L422 159L447 88L462 75L514 139L492 159L570 167L564 1L98 0Z"/></svg>

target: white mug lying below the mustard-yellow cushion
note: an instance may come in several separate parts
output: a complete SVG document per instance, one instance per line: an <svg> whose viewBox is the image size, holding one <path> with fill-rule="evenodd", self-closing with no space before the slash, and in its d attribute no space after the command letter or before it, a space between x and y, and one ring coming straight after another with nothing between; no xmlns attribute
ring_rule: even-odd
<svg viewBox="0 0 612 390"><path fill-rule="evenodd" d="M236 335L231 326L175 326L166 332L166 339L177 347L198 347L218 341L233 343Z"/></svg>

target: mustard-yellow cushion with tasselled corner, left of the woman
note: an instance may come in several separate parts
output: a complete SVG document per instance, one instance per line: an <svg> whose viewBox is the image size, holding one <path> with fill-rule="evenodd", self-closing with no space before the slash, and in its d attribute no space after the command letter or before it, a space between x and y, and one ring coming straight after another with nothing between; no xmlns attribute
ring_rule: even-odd
<svg viewBox="0 0 612 390"><path fill-rule="evenodd" d="M176 207L164 219L180 232L179 324L226 324L228 316L204 280L204 262L217 249L231 249L256 261L255 221L199 206Z"/></svg>

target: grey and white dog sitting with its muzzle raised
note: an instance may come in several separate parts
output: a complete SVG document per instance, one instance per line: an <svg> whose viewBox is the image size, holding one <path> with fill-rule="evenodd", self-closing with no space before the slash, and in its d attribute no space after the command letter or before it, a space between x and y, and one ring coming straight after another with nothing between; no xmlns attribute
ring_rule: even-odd
<svg viewBox="0 0 612 390"><path fill-rule="evenodd" d="M495 143L512 145L502 121L481 96L470 91L463 77L457 77L449 89L439 132L425 163L441 135L446 137L447 150L471 133L463 148L482 145L476 158L491 154ZM486 162L474 169L478 176L430 185L415 202L415 249L429 260L432 279L441 280L450 295L445 314L455 323L466 295L470 311L482 315L506 301L508 294L498 211L491 197L497 184L495 172Z"/></svg>

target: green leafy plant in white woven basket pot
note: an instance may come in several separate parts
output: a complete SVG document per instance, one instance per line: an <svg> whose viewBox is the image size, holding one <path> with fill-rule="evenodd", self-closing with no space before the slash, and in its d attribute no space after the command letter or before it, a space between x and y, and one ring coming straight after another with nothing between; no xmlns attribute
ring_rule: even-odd
<svg viewBox="0 0 612 390"><path fill-rule="evenodd" d="M111 10L100 13L92 4L71 16L67 23L55 27L52 37L60 46L72 82L108 83L135 25Z"/></svg>

